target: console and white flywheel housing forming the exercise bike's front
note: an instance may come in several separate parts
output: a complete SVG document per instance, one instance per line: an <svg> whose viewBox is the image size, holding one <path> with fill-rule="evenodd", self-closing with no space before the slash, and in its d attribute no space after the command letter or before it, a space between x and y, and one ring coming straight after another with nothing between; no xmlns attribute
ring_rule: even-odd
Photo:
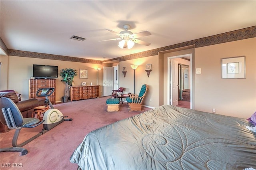
<svg viewBox="0 0 256 170"><path fill-rule="evenodd" d="M72 119L64 119L67 116L63 116L58 109L54 109L51 101L48 99L48 96L52 95L53 92L54 88L40 88L36 92L36 96L46 98L44 103L48 104L51 108L43 113L43 130L50 130L64 121L72 121Z"/></svg>

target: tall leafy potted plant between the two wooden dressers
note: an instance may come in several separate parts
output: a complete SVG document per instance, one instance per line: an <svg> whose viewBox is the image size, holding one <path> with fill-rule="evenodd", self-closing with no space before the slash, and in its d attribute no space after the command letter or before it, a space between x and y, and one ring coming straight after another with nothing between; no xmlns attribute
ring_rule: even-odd
<svg viewBox="0 0 256 170"><path fill-rule="evenodd" d="M62 97L63 102L68 102L68 85L71 85L75 76L77 76L76 69L61 69L60 76L62 77L62 82L65 83L64 96Z"/></svg>

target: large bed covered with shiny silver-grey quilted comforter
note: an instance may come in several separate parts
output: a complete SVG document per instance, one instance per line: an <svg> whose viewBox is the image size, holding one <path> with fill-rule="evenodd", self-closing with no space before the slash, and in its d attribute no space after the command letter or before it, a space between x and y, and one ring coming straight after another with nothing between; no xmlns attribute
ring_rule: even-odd
<svg viewBox="0 0 256 170"><path fill-rule="evenodd" d="M82 170L256 169L246 119L163 105L86 135L70 161Z"/></svg>

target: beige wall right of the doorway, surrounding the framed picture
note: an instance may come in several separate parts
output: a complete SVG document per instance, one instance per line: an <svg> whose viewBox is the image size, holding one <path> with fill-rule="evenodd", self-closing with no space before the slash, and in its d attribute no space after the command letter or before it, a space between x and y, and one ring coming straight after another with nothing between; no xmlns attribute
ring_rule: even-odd
<svg viewBox="0 0 256 170"><path fill-rule="evenodd" d="M256 38L195 49L196 110L248 118L256 111ZM246 56L246 79L222 79L221 58Z"/></svg>

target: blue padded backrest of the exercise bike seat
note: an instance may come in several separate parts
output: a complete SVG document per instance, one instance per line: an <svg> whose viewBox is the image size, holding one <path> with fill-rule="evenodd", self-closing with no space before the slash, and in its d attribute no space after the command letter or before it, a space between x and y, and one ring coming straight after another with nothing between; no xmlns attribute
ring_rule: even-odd
<svg viewBox="0 0 256 170"><path fill-rule="evenodd" d="M18 109L17 105L12 101L12 99L7 98L7 97L1 97L0 98L0 107L1 107L1 115L0 115L0 121L2 124L4 125L10 125L10 127L13 127L12 125L12 117L13 117L13 121L16 125L16 127L19 127L20 125L22 125L23 123L23 116L20 113L20 110ZM7 120L4 118L4 113L2 111L2 109L4 109L4 111L7 113ZM8 115L8 109L11 110L12 112L12 117L10 117ZM8 123L6 123L6 121L8 121Z"/></svg>

